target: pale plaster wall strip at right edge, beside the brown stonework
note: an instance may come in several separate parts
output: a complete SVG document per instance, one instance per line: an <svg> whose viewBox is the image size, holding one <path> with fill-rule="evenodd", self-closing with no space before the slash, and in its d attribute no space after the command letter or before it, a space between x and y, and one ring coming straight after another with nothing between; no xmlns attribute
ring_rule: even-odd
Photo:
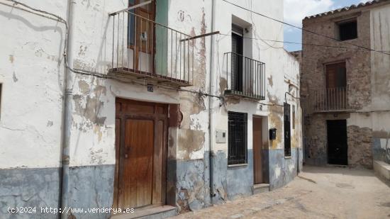
<svg viewBox="0 0 390 219"><path fill-rule="evenodd" d="M371 44L375 50L390 51L390 5L371 11ZM390 164L390 55L372 52L372 144L374 159ZM386 112L387 110L387 112Z"/></svg>

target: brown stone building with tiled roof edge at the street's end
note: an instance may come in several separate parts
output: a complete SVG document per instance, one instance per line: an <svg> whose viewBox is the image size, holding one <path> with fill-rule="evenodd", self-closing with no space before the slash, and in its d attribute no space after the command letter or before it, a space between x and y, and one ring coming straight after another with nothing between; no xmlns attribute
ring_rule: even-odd
<svg viewBox="0 0 390 219"><path fill-rule="evenodd" d="M306 164L390 161L390 1L303 19Z"/></svg>

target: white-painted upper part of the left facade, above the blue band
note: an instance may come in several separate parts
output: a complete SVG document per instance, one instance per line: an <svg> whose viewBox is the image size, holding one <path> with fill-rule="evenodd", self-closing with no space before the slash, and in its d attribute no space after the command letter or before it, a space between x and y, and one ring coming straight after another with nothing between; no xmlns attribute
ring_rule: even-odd
<svg viewBox="0 0 390 219"><path fill-rule="evenodd" d="M21 0L22 1L22 0ZM230 0L246 9L283 20L283 1L238 1ZM65 25L39 16L40 13L23 11L23 6L13 6L0 0L0 23L3 33L0 41L0 169L26 169L61 167L62 116L64 105ZM67 18L67 1L22 1L35 9L55 13ZM211 38L196 39L194 50L195 72L203 72L194 86L184 89L201 90L223 96L221 83L226 72L223 69L223 54L231 52L232 23L247 28L244 40L244 55L265 63L266 99L257 103L240 99L227 101L212 98L212 120L209 124L208 98L194 105L196 94L155 86L148 92L146 86L123 83L114 79L101 79L80 74L72 75L72 126L70 137L70 167L89 167L116 164L115 119L116 98L180 104L183 120L179 128L169 128L169 137L176 151L175 159L205 159L210 148L225 152L228 144L216 144L216 130L228 130L228 111L247 113L247 149L252 150L252 116L264 116L263 141L269 150L283 150L283 103L296 109L295 129L291 129L291 150L302 147L301 106L299 100L286 96L299 96L299 63L282 43L283 25L254 13L239 9L222 0L215 2L212 26L212 1L168 1L168 26L189 35L201 35L220 31ZM72 39L69 41L69 66L74 69L107 74L111 68L113 52L113 21L108 13L125 9L126 1L72 0L73 23L70 23ZM28 10L28 9L27 9ZM264 40L261 40L264 39ZM212 60L211 60L212 59ZM169 62L169 60L168 60ZM211 63L212 67L211 67ZM210 72L211 69L211 72ZM211 74L211 82L210 76ZM194 76L196 77L196 76ZM211 87L210 87L211 86ZM267 106L275 105L275 106ZM194 107L196 106L196 107ZM211 125L211 136L209 127ZM277 128L277 140L268 142L269 128ZM188 130L204 135L201 148L187 150L182 144ZM187 139L187 142L191 140ZM192 140L193 143L194 139ZM285 167L280 160L270 169L275 169L273 179L282 180L282 171L294 172L294 163ZM206 173L205 173L206 174Z"/></svg>

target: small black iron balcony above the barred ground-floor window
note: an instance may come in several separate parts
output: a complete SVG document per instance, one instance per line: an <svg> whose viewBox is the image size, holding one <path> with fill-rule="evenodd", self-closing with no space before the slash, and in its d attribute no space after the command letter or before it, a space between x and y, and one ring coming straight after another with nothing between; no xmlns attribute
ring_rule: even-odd
<svg viewBox="0 0 390 219"><path fill-rule="evenodd" d="M225 58L225 96L245 99L265 99L265 63L227 52Z"/></svg>

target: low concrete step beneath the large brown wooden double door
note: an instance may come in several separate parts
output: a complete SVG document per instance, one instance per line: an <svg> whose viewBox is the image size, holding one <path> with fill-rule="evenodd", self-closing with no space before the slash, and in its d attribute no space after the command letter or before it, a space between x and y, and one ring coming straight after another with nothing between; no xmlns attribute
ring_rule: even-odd
<svg viewBox="0 0 390 219"><path fill-rule="evenodd" d="M174 206L158 206L154 208L135 209L134 213L113 215L111 219L134 219L134 218L147 218L147 219L162 219L169 218L177 215L177 209Z"/></svg>

